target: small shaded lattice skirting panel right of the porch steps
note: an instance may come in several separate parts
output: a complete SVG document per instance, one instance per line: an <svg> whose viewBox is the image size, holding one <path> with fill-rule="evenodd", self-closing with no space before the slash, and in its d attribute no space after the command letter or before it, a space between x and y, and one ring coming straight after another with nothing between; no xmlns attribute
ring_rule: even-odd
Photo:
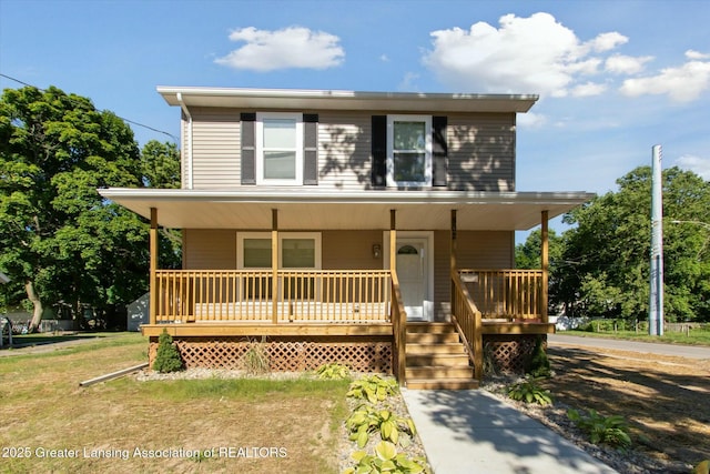
<svg viewBox="0 0 710 474"><path fill-rule="evenodd" d="M547 350L547 335L542 347ZM524 373L538 335L484 335L484 372Z"/></svg>

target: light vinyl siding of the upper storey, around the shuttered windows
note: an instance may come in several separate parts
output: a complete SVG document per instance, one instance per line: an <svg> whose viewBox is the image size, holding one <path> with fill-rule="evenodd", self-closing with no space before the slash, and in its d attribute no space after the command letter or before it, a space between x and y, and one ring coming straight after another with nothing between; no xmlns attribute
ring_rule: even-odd
<svg viewBox="0 0 710 474"><path fill-rule="evenodd" d="M195 108L192 134L194 189L241 186L240 112ZM318 188L372 189L371 118L386 111L304 111L318 113ZM436 111L427 112L432 115ZM515 114L448 114L447 188L515 191ZM189 183L187 122L183 118L183 183ZM186 184L185 184L186 185Z"/></svg>

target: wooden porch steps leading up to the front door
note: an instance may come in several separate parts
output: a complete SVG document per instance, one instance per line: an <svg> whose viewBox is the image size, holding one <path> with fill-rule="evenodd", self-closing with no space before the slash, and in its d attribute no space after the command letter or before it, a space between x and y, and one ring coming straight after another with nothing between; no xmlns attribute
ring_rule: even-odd
<svg viewBox="0 0 710 474"><path fill-rule="evenodd" d="M478 389L452 323L407 323L406 384L412 390Z"/></svg>

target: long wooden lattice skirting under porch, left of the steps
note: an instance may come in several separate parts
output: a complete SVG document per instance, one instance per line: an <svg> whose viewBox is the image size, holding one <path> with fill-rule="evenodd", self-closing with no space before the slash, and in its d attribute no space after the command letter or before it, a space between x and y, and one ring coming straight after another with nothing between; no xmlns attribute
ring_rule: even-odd
<svg viewBox="0 0 710 474"><path fill-rule="evenodd" d="M261 337L175 337L185 367L241 369L242 357ZM336 362L357 372L392 373L392 342L353 341L353 337L267 337L263 342L274 372L300 372ZM149 361L158 352L158 337L151 337Z"/></svg>

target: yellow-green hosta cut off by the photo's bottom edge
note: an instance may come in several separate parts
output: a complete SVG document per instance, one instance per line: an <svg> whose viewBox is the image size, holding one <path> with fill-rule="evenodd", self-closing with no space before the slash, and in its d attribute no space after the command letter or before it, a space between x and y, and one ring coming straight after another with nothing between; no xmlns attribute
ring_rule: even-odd
<svg viewBox="0 0 710 474"><path fill-rule="evenodd" d="M388 441L382 441L375 446L374 456L365 451L356 451L352 457L357 465L348 467L344 474L417 474L429 472L425 458L408 457L404 453L397 454L397 447Z"/></svg>

